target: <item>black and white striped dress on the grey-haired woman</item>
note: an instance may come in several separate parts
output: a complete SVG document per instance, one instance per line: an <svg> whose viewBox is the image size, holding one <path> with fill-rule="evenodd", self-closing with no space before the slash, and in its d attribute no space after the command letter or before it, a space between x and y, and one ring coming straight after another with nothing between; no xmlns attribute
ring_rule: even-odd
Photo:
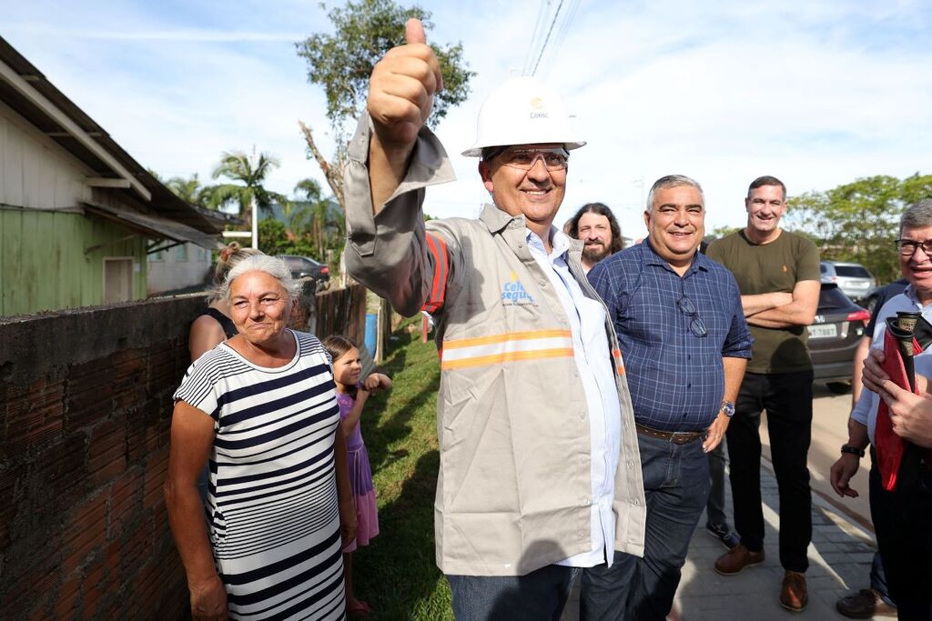
<svg viewBox="0 0 932 621"><path fill-rule="evenodd" d="M342 619L334 379L321 342L289 332L297 351L285 366L219 344L174 398L213 419L207 510L230 617Z"/></svg>

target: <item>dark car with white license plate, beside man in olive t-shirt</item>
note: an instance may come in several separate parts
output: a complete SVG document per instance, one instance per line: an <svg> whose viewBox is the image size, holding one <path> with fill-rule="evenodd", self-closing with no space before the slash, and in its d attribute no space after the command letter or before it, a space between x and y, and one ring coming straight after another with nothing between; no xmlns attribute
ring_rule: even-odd
<svg viewBox="0 0 932 621"><path fill-rule="evenodd" d="M808 327L816 382L825 382L837 394L851 387L857 342L869 322L870 312L852 302L838 285L822 283L816 319Z"/></svg>

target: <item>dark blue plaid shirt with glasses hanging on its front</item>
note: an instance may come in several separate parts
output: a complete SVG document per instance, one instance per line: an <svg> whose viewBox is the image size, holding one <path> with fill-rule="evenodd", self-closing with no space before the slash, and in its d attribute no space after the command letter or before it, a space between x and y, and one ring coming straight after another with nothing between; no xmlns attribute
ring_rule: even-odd
<svg viewBox="0 0 932 621"><path fill-rule="evenodd" d="M645 239L596 263L589 282L618 332L637 423L665 431L711 425L725 391L721 358L751 358L732 273L697 252L679 277ZM684 296L692 305L679 303ZM697 336L695 317L705 336Z"/></svg>

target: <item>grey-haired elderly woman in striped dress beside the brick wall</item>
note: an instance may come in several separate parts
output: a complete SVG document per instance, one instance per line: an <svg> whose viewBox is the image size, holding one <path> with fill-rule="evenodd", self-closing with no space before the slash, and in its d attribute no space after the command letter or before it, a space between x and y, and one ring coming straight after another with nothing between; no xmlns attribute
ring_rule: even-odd
<svg viewBox="0 0 932 621"><path fill-rule="evenodd" d="M243 260L221 293L239 333L175 392L165 483L191 614L343 618L340 549L355 516L330 359L286 328L296 286L281 260ZM196 481L208 459L205 524Z"/></svg>

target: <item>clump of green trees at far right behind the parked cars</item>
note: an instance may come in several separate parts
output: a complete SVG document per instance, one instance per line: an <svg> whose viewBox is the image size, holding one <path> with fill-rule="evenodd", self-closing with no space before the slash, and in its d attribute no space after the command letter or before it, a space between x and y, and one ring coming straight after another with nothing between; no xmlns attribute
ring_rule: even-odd
<svg viewBox="0 0 932 621"><path fill-rule="evenodd" d="M788 201L788 225L816 240L822 258L867 267L881 282L899 277L894 240L907 206L932 198L932 175L877 175Z"/></svg>

